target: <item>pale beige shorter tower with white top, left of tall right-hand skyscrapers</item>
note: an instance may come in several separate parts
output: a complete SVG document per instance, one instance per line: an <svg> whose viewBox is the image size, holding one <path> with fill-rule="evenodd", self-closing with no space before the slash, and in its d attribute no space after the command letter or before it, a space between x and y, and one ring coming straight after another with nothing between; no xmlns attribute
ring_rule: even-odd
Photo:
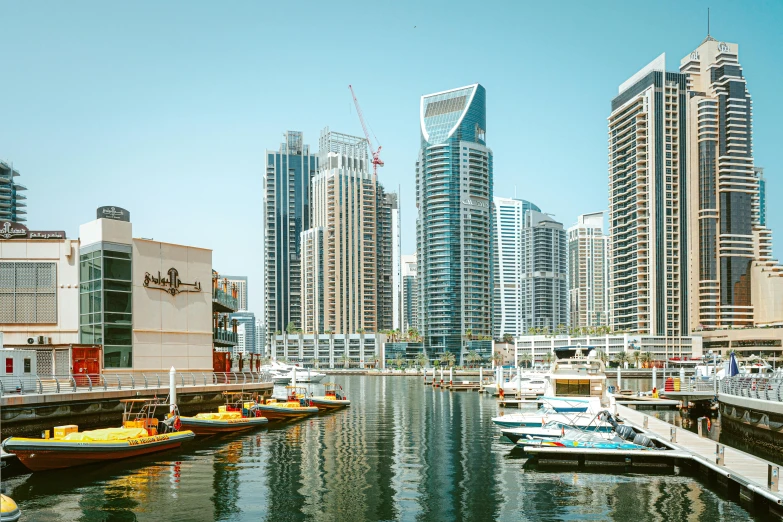
<svg viewBox="0 0 783 522"><path fill-rule="evenodd" d="M570 325L609 325L607 246L604 213L583 214L568 229L568 302Z"/></svg>

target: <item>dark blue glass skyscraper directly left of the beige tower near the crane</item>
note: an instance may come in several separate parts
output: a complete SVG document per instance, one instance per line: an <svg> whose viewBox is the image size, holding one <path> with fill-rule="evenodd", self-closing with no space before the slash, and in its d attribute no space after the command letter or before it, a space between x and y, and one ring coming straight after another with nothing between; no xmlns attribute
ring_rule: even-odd
<svg viewBox="0 0 783 522"><path fill-rule="evenodd" d="M310 182L318 158L301 132L288 131L266 152L264 175L264 311L270 335L301 327L300 234L310 228Z"/></svg>

